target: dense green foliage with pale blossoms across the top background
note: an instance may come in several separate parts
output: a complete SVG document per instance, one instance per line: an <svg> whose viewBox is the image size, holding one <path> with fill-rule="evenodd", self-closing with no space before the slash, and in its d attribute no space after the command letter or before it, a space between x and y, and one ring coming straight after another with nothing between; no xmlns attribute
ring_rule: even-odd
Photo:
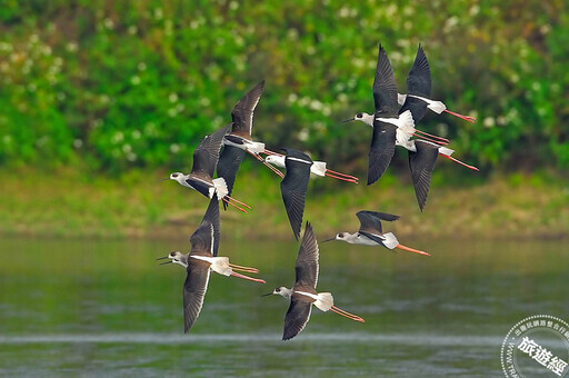
<svg viewBox="0 0 569 378"><path fill-rule="evenodd" d="M4 1L0 163L94 169L189 165L196 143L267 80L254 137L365 171L378 42L401 91L419 42L429 115L482 167L569 167L565 1ZM466 156L465 156L466 155Z"/></svg>

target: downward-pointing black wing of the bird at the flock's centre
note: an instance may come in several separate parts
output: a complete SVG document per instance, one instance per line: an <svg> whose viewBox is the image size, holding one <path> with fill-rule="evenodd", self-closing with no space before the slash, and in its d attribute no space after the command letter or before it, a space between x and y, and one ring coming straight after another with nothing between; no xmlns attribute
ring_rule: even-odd
<svg viewBox="0 0 569 378"><path fill-rule="evenodd" d="M306 160L307 158L308 161ZM308 155L300 151L287 150L284 166L287 167L287 175L284 175L280 182L280 191L290 227L292 227L295 238L298 240L300 228L302 227L302 215L305 213L305 200L312 160L310 160Z"/></svg>

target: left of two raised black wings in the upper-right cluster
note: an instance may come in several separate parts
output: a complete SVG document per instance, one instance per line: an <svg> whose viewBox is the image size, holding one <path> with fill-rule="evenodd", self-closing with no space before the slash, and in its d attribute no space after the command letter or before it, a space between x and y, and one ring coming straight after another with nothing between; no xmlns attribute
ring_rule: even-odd
<svg viewBox="0 0 569 378"><path fill-rule="evenodd" d="M386 50L380 44L378 66L373 79L373 103L376 117L397 118L397 82Z"/></svg>

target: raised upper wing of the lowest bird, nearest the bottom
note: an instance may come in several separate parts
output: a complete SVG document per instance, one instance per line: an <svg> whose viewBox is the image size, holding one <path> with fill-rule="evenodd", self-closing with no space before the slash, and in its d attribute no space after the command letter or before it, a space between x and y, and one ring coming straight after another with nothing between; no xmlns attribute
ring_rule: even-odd
<svg viewBox="0 0 569 378"><path fill-rule="evenodd" d="M300 242L295 271L297 273L295 287L310 286L316 289L318 284L318 242L312 226L308 221L305 226L305 235Z"/></svg>

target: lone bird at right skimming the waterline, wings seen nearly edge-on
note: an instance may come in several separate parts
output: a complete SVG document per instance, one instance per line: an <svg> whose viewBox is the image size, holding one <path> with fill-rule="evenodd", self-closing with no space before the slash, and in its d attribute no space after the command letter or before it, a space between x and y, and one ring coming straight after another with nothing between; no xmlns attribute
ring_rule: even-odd
<svg viewBox="0 0 569 378"><path fill-rule="evenodd" d="M325 240L342 240L350 245L362 245L362 246L381 246L388 249L402 249L409 252L415 252L423 256L430 256L430 253L422 250L409 248L399 243L396 236L392 232L383 233L381 229L381 220L393 221L398 220L399 216L395 216L386 212L378 211L358 211L356 213L360 220L360 229L355 232L339 232L333 238Z"/></svg>

